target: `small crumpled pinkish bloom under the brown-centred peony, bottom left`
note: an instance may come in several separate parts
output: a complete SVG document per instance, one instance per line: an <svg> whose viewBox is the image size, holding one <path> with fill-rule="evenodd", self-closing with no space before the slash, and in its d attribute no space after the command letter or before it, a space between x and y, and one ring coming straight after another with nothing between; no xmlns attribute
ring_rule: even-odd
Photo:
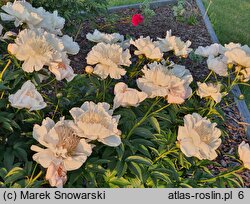
<svg viewBox="0 0 250 204"><path fill-rule="evenodd" d="M67 181L67 171L62 163L55 164L51 162L47 169L45 179L49 181L52 187L62 188Z"/></svg>

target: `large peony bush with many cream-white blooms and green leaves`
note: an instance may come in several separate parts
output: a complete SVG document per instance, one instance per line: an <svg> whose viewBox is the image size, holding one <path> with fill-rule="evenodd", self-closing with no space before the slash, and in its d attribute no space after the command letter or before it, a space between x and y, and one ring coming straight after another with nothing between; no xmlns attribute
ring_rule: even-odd
<svg viewBox="0 0 250 204"><path fill-rule="evenodd" d="M192 50L171 31L155 41L95 30L75 74L80 47L57 11L15 1L0 16L1 187L245 186L249 143L234 155L220 146L221 104L249 85L247 45ZM187 58L207 58L210 74L195 81ZM233 161L223 172L222 156Z"/></svg>

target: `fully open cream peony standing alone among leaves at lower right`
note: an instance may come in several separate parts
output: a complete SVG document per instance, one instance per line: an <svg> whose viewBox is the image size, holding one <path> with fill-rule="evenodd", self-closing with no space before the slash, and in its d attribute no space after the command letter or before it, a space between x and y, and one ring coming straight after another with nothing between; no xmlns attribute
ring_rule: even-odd
<svg viewBox="0 0 250 204"><path fill-rule="evenodd" d="M221 144L221 131L216 126L198 113L186 115L177 137L181 151L187 157L214 160L217 157L215 150Z"/></svg>

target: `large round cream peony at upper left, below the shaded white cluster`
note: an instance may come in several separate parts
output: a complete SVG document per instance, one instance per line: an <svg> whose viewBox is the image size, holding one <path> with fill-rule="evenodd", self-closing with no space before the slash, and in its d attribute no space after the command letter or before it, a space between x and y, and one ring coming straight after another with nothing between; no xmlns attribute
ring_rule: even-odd
<svg viewBox="0 0 250 204"><path fill-rule="evenodd" d="M33 72L41 70L53 60L53 56L58 52L53 45L56 45L57 49L60 48L60 51L64 49L56 36L25 29L18 34L14 44L9 44L8 51L18 60L24 61L22 68L25 72Z"/></svg>

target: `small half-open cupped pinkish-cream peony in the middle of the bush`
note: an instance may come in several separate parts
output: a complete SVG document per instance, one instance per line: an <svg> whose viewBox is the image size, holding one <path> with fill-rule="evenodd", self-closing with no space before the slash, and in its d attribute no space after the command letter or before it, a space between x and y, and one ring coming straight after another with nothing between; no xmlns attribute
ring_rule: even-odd
<svg viewBox="0 0 250 204"><path fill-rule="evenodd" d="M128 106L138 106L142 101L147 98L147 94L144 92L139 92L136 89L128 88L128 86L119 82L115 85L114 90L115 98L114 98L114 107L116 109L120 106L128 107Z"/></svg>

